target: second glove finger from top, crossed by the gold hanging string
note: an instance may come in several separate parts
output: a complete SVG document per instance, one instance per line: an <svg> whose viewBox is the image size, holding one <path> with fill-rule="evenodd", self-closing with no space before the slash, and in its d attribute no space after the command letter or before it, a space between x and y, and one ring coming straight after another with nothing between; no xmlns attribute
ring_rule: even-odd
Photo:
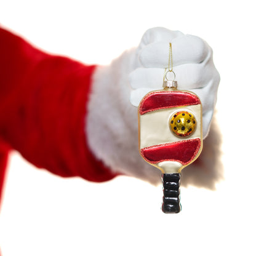
<svg viewBox="0 0 256 256"><path fill-rule="evenodd" d="M197 36L184 35L172 40L172 62L174 66L185 63L201 63L211 55L210 47ZM138 56L145 68L167 68L169 42L156 42L145 46Z"/></svg>

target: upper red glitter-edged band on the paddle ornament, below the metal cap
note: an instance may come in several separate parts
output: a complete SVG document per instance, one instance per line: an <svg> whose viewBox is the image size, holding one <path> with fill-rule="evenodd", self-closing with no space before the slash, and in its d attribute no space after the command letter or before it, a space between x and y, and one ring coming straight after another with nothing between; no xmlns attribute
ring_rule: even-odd
<svg viewBox="0 0 256 256"><path fill-rule="evenodd" d="M198 105L200 100L196 95L181 91L161 91L151 92L143 98L140 103L140 114L145 114L154 110L163 108L172 108L177 106Z"/></svg>

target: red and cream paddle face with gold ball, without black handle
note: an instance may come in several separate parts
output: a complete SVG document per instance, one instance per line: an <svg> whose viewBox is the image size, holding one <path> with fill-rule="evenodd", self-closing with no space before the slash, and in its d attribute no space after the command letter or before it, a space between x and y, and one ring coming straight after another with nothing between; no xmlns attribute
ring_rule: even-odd
<svg viewBox="0 0 256 256"><path fill-rule="evenodd" d="M162 173L180 172L202 150L202 106L195 94L156 90L138 106L139 150Z"/></svg>

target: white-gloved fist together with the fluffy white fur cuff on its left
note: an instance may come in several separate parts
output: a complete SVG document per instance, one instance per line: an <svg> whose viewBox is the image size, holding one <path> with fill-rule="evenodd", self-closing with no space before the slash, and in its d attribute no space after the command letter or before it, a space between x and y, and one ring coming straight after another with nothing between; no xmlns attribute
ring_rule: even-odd
<svg viewBox="0 0 256 256"><path fill-rule="evenodd" d="M178 89L191 90L201 98L203 136L209 132L220 76L212 50L202 39L180 31L153 28L143 35L137 49L124 52L94 73L86 134L90 150L113 172L151 183L161 181L160 170L138 153L137 108L150 90L162 89L172 42Z"/></svg>

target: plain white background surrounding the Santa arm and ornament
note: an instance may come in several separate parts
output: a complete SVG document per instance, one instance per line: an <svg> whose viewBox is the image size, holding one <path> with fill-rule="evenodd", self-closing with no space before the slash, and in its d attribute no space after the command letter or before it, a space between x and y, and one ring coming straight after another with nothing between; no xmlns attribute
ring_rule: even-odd
<svg viewBox="0 0 256 256"><path fill-rule="evenodd" d="M109 63L154 26L205 39L222 79L225 169L215 191L182 188L182 212L165 215L161 186L63 179L13 153L0 215L3 256L256 254L253 3L1 0L1 25L85 63Z"/></svg>

